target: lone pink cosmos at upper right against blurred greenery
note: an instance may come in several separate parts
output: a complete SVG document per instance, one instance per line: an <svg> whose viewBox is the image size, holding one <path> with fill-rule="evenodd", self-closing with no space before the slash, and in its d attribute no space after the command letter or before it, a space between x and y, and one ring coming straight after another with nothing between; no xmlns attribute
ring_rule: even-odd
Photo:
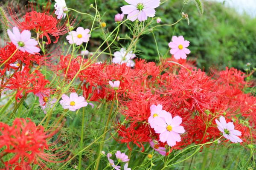
<svg viewBox="0 0 256 170"><path fill-rule="evenodd" d="M190 54L189 41L185 41L183 36L173 36L172 42L169 42L169 47L172 48L170 53L174 55L175 59L186 59L186 54Z"/></svg>

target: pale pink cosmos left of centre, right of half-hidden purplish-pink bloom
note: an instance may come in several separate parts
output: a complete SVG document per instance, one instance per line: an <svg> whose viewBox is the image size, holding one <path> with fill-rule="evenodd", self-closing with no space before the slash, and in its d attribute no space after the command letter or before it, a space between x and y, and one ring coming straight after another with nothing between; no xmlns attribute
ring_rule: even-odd
<svg viewBox="0 0 256 170"><path fill-rule="evenodd" d="M63 94L61 96L62 100L60 101L64 109L69 109L70 111L76 111L82 107L88 105L83 96L78 96L76 93L71 93L70 97Z"/></svg>

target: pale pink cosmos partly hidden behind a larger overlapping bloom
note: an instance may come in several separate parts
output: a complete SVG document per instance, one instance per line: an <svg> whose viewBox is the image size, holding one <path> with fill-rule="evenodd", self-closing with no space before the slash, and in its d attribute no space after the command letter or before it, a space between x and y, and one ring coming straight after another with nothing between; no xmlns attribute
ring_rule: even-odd
<svg viewBox="0 0 256 170"><path fill-rule="evenodd" d="M167 111L164 111L162 109L163 109L162 105L157 105L157 106L151 105L151 107L150 107L151 114L148 118L148 123L150 124L150 126L152 128L157 126L157 119L163 119L163 117L166 114L170 114Z"/></svg>

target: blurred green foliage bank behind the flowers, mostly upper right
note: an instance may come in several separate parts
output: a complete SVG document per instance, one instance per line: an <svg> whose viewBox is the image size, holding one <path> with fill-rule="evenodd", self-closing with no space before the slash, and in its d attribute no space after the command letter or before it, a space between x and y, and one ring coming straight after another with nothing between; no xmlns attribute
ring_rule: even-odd
<svg viewBox="0 0 256 170"><path fill-rule="evenodd" d="M28 1L13 1L24 6ZM47 0L33 0L40 5L46 4ZM53 0L52 0L53 2ZM116 26L113 18L116 13L121 13L120 7L125 5L124 0L96 0L98 10L102 15L102 22L107 23L107 29L113 30ZM12 3L3 0L3 3ZM54 2L53 2L54 3ZM94 10L90 4L94 0L66 0L69 8L94 15ZM52 9L53 10L53 9ZM190 41L189 49L191 54L189 59L196 59L199 68L209 71L209 68L223 69L226 66L235 67L241 70L246 68L246 63L250 62L250 67L256 67L256 18L246 14L239 14L234 8L228 8L223 3L205 1L204 14L198 12L193 2L186 5L183 0L169 0L157 8L156 17L162 19L162 24L174 23L180 16L180 11L189 15L189 23L182 20L175 27L158 27L155 31L159 50L165 54L168 50L168 42L172 35L183 35ZM76 16L77 14L73 12ZM79 15L80 26L90 28L92 21L88 17ZM176 29L175 29L176 28ZM120 37L125 36L128 29L123 27ZM93 51L102 42L101 30L94 31L90 40L90 50ZM65 37L64 37L65 38ZM125 45L128 42L119 42ZM117 46L120 46L116 43ZM157 51L152 34L143 35L137 45L141 54L137 55L147 60L157 59Z"/></svg>

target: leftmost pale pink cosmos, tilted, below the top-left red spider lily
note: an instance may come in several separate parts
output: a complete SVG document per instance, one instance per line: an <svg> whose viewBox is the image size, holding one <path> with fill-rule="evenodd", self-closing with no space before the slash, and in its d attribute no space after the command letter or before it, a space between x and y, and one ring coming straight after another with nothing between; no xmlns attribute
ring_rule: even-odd
<svg viewBox="0 0 256 170"><path fill-rule="evenodd" d="M7 33L12 43L19 48L20 51L26 51L30 54L35 54L40 51L40 48L36 47L38 42L31 38L31 32L29 30L23 30L20 33L17 27L13 27L12 31L8 29Z"/></svg>

